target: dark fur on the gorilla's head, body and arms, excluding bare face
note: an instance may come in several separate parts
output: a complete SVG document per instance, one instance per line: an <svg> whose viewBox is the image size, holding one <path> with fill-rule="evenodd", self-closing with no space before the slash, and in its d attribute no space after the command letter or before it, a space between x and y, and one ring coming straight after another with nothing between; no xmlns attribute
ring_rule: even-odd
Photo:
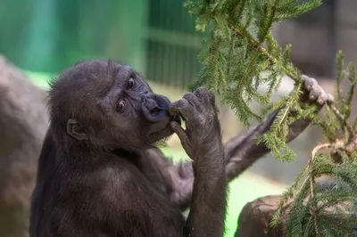
<svg viewBox="0 0 357 237"><path fill-rule="evenodd" d="M190 205L186 235L222 236L226 206L222 166L226 165L229 180L269 152L255 138L270 128L277 111L230 139L223 155L214 106L206 101L194 110L187 103L196 102L196 95L202 94L212 100L212 94L202 89L200 93L185 94L170 109L173 114L191 111L186 114L191 123L187 122L187 131L175 123L172 127L194 166L173 165L153 145L172 134L170 127L156 137L148 137L143 127L150 130L150 123L145 122L142 110L131 110L113 119L112 111L98 108L95 100L103 98L113 86L120 86L114 79L120 82L125 75L141 78L132 69L110 61L81 61L54 81L49 104L51 127L38 161L30 237L180 236L185 223L180 210ZM327 102L327 94L316 81L305 80L302 101L322 98L323 103ZM151 91L144 80L142 83L144 91ZM316 96L310 98L311 94ZM99 105L111 100L103 102ZM164 110L168 110L168 103L167 100ZM167 113L163 115L157 118L162 121L159 125L177 120ZM79 141L65 132L70 118L90 126L89 139ZM80 135L83 127L75 122L70 128ZM310 122L299 120L290 125L287 140L294 140Z"/></svg>

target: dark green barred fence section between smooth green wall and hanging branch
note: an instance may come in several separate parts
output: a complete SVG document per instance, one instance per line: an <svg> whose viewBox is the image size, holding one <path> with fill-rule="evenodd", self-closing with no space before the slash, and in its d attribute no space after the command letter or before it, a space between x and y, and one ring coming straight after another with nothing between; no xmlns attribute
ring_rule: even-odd
<svg viewBox="0 0 357 237"><path fill-rule="evenodd" d="M150 0L148 9L147 78L186 87L197 77L202 33L182 1Z"/></svg>

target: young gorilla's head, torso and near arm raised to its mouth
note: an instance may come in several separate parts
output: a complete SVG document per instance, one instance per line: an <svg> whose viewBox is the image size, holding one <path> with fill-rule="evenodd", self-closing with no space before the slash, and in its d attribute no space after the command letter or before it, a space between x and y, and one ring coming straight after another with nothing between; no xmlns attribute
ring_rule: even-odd
<svg viewBox="0 0 357 237"><path fill-rule="evenodd" d="M227 181L211 92L170 103L129 66L81 61L51 84L49 112L30 237L223 236ZM149 155L174 130L194 161L187 220Z"/></svg>

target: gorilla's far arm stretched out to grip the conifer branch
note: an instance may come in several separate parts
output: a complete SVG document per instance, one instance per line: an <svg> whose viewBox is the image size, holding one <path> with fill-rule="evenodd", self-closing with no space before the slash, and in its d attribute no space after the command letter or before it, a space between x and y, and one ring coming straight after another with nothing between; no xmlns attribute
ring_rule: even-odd
<svg viewBox="0 0 357 237"><path fill-rule="evenodd" d="M305 83L302 102L317 102L320 108L326 102L333 100L316 82L314 78L303 76ZM262 121L262 123L248 129L247 131L232 137L224 145L226 160L226 175L228 180L232 180L251 167L255 161L262 158L270 149L265 143L256 143L256 138L270 129L270 126L277 118L279 110L275 110ZM310 125L308 119L297 120L289 126L287 142L291 142L300 135L303 130ZM169 159L165 158L161 151L153 150L150 156L160 160L162 176L169 189L170 200L181 208L187 208L192 194L194 173L190 162L173 165Z"/></svg>

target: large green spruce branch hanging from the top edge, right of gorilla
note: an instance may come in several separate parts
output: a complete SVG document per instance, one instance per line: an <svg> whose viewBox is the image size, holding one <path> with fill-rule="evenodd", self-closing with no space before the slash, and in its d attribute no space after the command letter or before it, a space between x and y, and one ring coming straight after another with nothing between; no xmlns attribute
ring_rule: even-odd
<svg viewBox="0 0 357 237"><path fill-rule="evenodd" d="M303 110L299 103L300 73L288 60L290 46L281 49L271 35L271 28L280 20L294 18L320 4L320 0L196 0L185 3L188 12L196 17L196 29L209 28L199 55L203 69L190 89L206 86L220 94L222 102L230 105L245 125L249 125L251 119L262 119L262 115L251 110L252 102L270 110L285 105L270 133L262 137L279 159L295 158L294 152L286 146L285 137L288 125L298 119L289 116L290 110ZM271 104L270 96L278 89L284 75L296 80L296 89L280 102ZM268 86L264 94L257 90L262 85Z"/></svg>

